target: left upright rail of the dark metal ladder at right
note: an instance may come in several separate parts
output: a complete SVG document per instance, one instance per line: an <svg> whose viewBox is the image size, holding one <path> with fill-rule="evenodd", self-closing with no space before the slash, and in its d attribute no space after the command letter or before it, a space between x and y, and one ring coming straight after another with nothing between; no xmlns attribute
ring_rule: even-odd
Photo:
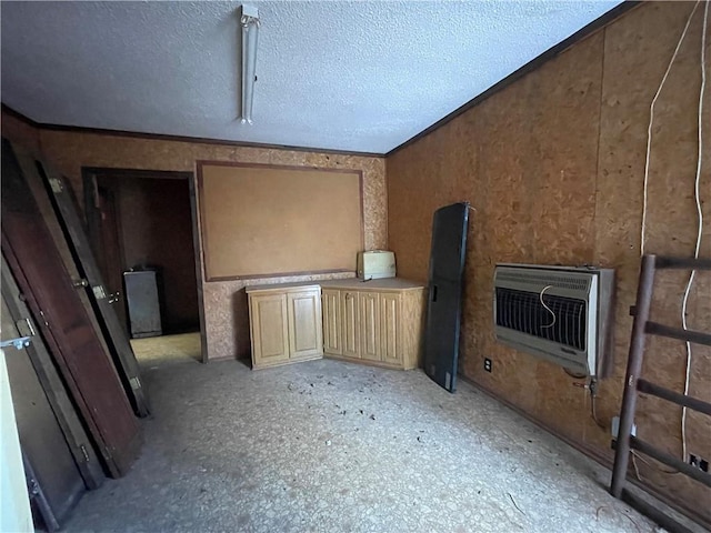
<svg viewBox="0 0 711 533"><path fill-rule="evenodd" d="M637 409L637 380L642 370L644 359L644 326L649 320L649 310L652 303L654 286L654 255L642 257L640 269L640 282L637 288L637 303L634 321L632 323L632 338L630 340L630 355L627 362L624 376L624 395L622 396L622 412L620 413L620 429L614 453L614 467L612 469L612 486L610 493L614 497L621 497L627 469L630 461L630 438L634 423Z"/></svg>

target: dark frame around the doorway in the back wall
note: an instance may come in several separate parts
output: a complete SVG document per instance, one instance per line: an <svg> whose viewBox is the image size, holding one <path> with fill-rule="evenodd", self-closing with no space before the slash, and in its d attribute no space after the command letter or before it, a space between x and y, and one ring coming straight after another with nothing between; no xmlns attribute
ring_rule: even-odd
<svg viewBox="0 0 711 533"><path fill-rule="evenodd" d="M196 258L196 281L198 286L198 316L200 320L200 358L202 363L209 361L208 342L204 320L204 299L202 280L202 255L200 247L200 228L198 220L197 183L194 172L179 170L144 170L144 169L121 169L109 167L82 167L81 179L83 188L83 207L87 217L87 232L92 244L97 242L97 231L99 228L98 210L94 198L97 194L98 178L100 175L117 175L124 178L141 179L169 179L187 180L188 193L190 195L190 224L192 227L192 250Z"/></svg>

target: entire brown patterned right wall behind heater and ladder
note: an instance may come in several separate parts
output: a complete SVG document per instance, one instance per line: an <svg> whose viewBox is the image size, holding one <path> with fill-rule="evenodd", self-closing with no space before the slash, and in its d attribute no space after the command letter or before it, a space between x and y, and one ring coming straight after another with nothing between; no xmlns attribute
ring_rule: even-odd
<svg viewBox="0 0 711 533"><path fill-rule="evenodd" d="M427 279L431 215L468 200L470 225L460 370L581 447L612 457L610 420L619 412L640 263L642 180L649 105L687 17L688 2L651 2L549 61L387 160L389 247L403 276ZM649 187L647 251L690 255L697 232L693 179L700 90L702 9L657 104ZM711 56L707 51L707 57ZM707 86L707 89L710 89ZM709 91L711 92L711 91ZM711 94L707 93L707 119ZM705 123L707 128L711 124ZM711 137L705 135L708 145ZM711 255L711 157L701 191ZM598 418L583 389L562 369L494 341L492 278L497 262L594 263L617 269L615 372L601 384ZM654 320L680 325L689 273L657 285ZM711 329L711 276L697 276L689 325ZM682 390L681 342L653 340L644 373ZM483 371L483 358L493 372ZM693 346L690 393L711 401L711 352ZM639 435L681 456L681 409L639 403ZM689 452L711 456L711 421L688 415ZM644 483L711 520L711 491L638 461Z"/></svg>

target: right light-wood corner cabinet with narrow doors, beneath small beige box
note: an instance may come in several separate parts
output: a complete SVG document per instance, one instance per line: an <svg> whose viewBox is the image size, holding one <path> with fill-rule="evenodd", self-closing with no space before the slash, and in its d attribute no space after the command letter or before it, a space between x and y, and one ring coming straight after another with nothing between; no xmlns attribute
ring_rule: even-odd
<svg viewBox="0 0 711 533"><path fill-rule="evenodd" d="M327 355L392 369L420 365L424 285L391 278L365 283L357 279L323 281L321 288L329 335L323 344ZM332 304L337 293L338 311ZM341 344L336 345L330 339L337 339L339 331Z"/></svg>

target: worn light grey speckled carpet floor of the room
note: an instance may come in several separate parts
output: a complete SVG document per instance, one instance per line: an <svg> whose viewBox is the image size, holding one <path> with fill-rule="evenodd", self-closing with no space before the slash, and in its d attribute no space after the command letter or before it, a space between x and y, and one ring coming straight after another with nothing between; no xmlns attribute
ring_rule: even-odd
<svg viewBox="0 0 711 533"><path fill-rule="evenodd" d="M331 360L143 368L142 455L68 532L658 531L599 465L467 383Z"/></svg>

